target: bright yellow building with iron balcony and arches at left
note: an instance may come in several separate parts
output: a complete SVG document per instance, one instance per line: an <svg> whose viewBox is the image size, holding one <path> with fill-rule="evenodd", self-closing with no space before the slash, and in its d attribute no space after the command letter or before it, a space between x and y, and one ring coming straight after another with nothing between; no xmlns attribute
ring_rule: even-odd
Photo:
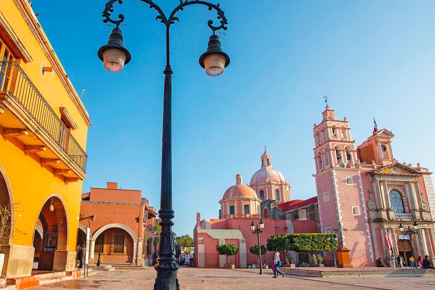
<svg viewBox="0 0 435 290"><path fill-rule="evenodd" d="M0 1L2 275L75 270L90 119L27 0ZM36 267L36 266L35 266Z"/></svg>

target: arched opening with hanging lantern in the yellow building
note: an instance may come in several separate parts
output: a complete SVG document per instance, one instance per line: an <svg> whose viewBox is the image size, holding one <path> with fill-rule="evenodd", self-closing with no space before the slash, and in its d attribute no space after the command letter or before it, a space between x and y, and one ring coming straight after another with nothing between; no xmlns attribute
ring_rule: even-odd
<svg viewBox="0 0 435 290"><path fill-rule="evenodd" d="M49 197L41 208L38 223L42 229L38 270L64 271L67 266L68 219L63 201L59 196ZM33 235L33 246L40 235L37 229ZM36 255L35 255L36 258Z"/></svg>

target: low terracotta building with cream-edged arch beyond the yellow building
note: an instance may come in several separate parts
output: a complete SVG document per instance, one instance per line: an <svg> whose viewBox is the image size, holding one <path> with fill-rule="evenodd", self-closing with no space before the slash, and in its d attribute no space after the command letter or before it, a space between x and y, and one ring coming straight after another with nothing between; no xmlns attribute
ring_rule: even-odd
<svg viewBox="0 0 435 290"><path fill-rule="evenodd" d="M82 194L77 245L84 244L89 226L90 263L97 262L99 251L101 263L151 263L154 249L151 255L147 253L146 243L158 237L154 228L156 213L141 194L141 190L119 189L115 182Z"/></svg>

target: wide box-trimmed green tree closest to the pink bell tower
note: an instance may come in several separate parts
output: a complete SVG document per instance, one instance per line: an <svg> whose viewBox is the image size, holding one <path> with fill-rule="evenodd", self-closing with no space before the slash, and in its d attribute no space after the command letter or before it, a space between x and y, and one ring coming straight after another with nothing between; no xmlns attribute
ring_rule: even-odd
<svg viewBox="0 0 435 290"><path fill-rule="evenodd" d="M311 254L311 263L317 264L315 253L332 251L332 241L328 239L331 234L328 233L289 233L287 234L290 243L290 250L298 253ZM337 236L332 235L335 239L334 248L337 249ZM323 258L323 257L322 257Z"/></svg>

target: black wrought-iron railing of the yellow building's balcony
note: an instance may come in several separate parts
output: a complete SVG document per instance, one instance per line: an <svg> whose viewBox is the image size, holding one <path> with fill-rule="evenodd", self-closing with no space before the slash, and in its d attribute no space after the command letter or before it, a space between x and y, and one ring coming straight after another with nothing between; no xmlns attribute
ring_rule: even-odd
<svg viewBox="0 0 435 290"><path fill-rule="evenodd" d="M12 97L70 160L86 172L86 152L17 62L0 62L0 93Z"/></svg>

